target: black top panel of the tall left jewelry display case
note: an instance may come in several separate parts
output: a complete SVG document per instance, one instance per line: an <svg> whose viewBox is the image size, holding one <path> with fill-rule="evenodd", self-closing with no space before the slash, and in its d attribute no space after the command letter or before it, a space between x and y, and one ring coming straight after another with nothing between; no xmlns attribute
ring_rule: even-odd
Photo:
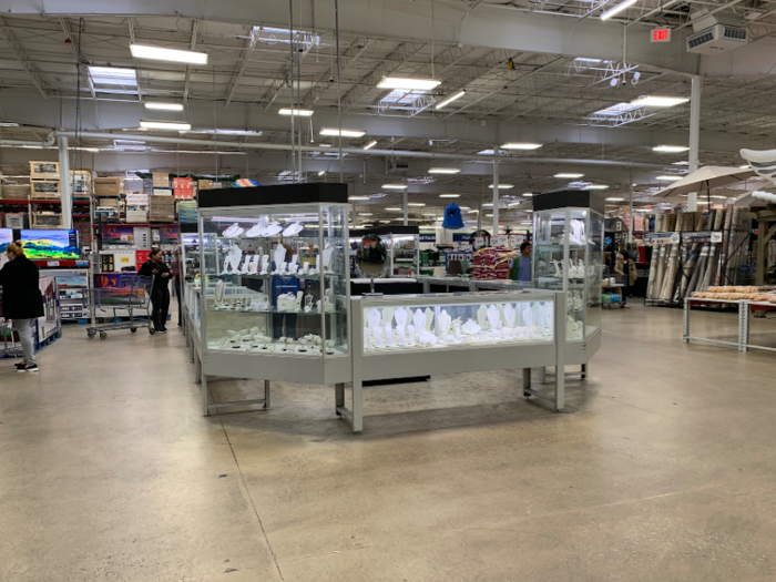
<svg viewBox="0 0 776 582"><path fill-rule="evenodd" d="M277 206L278 204L347 204L347 184L280 184L251 188L201 190L201 208Z"/></svg>

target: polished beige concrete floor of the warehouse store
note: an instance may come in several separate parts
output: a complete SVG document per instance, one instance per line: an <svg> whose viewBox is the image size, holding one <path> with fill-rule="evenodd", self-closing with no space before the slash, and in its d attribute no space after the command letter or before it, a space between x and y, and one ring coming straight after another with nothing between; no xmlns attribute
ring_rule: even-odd
<svg viewBox="0 0 776 582"><path fill-rule="evenodd" d="M363 436L323 386L204 418L181 335L69 327L37 375L0 360L0 580L776 580L776 355L684 345L678 310L603 327L564 413L437 377L368 388Z"/></svg>

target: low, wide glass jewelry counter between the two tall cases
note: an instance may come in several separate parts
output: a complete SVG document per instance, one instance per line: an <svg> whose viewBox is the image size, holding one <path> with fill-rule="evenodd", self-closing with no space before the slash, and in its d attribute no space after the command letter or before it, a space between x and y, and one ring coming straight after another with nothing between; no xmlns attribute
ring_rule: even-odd
<svg viewBox="0 0 776 582"><path fill-rule="evenodd" d="M353 297L353 407L337 386L337 411L364 427L363 382L467 371L523 369L523 394L563 408L564 377L549 397L530 388L530 368L563 367L562 292L480 292Z"/></svg>

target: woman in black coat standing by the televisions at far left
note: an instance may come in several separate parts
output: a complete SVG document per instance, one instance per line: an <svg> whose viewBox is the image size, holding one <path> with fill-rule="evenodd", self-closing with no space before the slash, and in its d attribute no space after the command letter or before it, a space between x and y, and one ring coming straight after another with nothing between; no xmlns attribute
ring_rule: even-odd
<svg viewBox="0 0 776 582"><path fill-rule="evenodd" d="M6 256L8 263L0 269L2 315L13 320L24 353L24 360L16 365L17 371L38 371L32 326L44 314L38 265L24 256L21 241L8 245Z"/></svg>

